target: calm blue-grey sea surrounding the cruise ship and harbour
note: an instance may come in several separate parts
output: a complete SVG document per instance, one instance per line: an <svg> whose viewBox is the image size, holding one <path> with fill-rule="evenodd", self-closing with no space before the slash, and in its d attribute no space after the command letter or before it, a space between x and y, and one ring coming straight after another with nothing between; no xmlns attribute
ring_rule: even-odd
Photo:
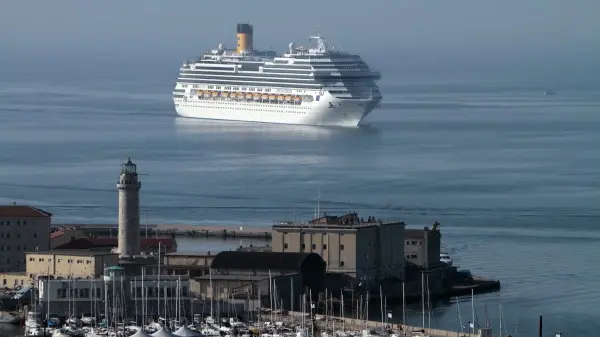
<svg viewBox="0 0 600 337"><path fill-rule="evenodd" d="M317 199L330 213L437 220L456 264L502 281L475 298L481 325L497 330L502 304L515 335L533 335L540 314L548 333L600 331L600 86L386 78L366 125L337 129L177 118L172 76L0 80L0 203L114 223L131 156L150 223L265 226L308 219ZM438 305L432 325L466 326L469 301Z"/></svg>

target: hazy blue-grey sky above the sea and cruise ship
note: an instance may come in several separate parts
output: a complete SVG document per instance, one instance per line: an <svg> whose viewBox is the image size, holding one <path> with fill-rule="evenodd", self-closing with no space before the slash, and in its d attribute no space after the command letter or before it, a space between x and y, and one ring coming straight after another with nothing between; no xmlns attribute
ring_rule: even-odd
<svg viewBox="0 0 600 337"><path fill-rule="evenodd" d="M254 24L255 47L284 51L319 28L338 49L382 67L596 62L598 0L55 0L0 1L3 67L27 62L149 66L235 43Z"/></svg>

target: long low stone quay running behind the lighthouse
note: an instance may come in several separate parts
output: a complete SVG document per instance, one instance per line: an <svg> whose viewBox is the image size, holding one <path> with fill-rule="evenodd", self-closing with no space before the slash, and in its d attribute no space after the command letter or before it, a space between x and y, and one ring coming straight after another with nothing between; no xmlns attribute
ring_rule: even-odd
<svg viewBox="0 0 600 337"><path fill-rule="evenodd" d="M59 224L56 228L80 229L92 236L117 236L116 224ZM148 224L140 225L140 235L154 236L189 236L189 237L217 237L217 238L248 238L270 239L271 227L246 227L246 226L198 226L177 224Z"/></svg>

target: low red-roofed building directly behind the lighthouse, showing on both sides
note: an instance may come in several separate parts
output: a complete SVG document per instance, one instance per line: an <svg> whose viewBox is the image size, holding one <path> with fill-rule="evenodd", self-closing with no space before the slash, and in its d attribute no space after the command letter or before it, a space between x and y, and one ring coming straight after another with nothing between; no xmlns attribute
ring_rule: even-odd
<svg viewBox="0 0 600 337"><path fill-rule="evenodd" d="M144 253L158 253L158 246L161 252L170 253L177 251L177 242L170 237L163 238L142 238L140 239L140 251ZM76 238L65 244L55 247L60 250L91 250L91 251L110 251L118 246L116 237L95 237L95 238Z"/></svg>

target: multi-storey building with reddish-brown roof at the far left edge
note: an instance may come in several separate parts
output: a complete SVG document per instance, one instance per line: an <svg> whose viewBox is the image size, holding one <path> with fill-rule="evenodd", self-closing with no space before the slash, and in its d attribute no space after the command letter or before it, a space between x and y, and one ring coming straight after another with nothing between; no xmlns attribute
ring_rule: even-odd
<svg viewBox="0 0 600 337"><path fill-rule="evenodd" d="M52 214L31 206L0 206L0 272L25 270L25 252L50 247Z"/></svg>

